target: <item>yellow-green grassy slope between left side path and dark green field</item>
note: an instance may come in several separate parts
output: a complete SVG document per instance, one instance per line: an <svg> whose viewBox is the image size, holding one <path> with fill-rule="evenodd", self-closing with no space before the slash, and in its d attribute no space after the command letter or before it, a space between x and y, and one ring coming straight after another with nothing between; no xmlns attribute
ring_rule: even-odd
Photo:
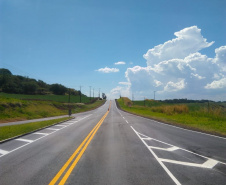
<svg viewBox="0 0 226 185"><path fill-rule="evenodd" d="M0 96L0 123L67 115L69 108L72 114L84 112L97 108L104 102L105 100L97 100L92 104L62 103Z"/></svg>

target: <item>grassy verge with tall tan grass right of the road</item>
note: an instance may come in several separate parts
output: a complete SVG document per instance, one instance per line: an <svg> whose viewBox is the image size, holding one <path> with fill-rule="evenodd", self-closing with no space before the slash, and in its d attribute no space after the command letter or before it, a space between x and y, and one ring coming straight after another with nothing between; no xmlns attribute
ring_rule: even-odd
<svg viewBox="0 0 226 185"><path fill-rule="evenodd" d="M185 128L226 136L226 105L221 103L167 104L158 101L134 101L128 98L117 100L128 112L157 119Z"/></svg>

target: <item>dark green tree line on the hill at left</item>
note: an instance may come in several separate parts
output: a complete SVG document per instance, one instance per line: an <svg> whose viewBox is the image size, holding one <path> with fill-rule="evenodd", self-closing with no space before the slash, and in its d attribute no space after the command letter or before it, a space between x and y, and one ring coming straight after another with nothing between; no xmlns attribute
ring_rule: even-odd
<svg viewBox="0 0 226 185"><path fill-rule="evenodd" d="M13 75L10 70L0 68L0 92L13 94L55 94L55 95L80 95L81 92L69 89L64 85L55 83L47 84L42 80Z"/></svg>

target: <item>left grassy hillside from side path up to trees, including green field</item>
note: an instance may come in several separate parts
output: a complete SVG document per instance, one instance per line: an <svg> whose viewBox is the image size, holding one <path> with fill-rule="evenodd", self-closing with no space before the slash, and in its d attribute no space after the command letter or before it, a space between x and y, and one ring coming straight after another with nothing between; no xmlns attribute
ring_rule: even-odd
<svg viewBox="0 0 226 185"><path fill-rule="evenodd" d="M70 102L73 103L64 103L68 101L68 96L0 93L0 123L67 115L69 107L72 113L84 112L95 109L105 102L97 100L91 104L74 103L78 102L75 101L77 99L79 97L71 96ZM86 99L89 101L88 97Z"/></svg>

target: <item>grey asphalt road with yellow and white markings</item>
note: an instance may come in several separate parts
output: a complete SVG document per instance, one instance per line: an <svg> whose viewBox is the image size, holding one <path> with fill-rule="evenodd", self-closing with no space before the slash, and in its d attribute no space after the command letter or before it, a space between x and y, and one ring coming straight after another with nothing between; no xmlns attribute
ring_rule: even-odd
<svg viewBox="0 0 226 185"><path fill-rule="evenodd" d="M0 184L226 184L225 138L109 104L0 144Z"/></svg>

